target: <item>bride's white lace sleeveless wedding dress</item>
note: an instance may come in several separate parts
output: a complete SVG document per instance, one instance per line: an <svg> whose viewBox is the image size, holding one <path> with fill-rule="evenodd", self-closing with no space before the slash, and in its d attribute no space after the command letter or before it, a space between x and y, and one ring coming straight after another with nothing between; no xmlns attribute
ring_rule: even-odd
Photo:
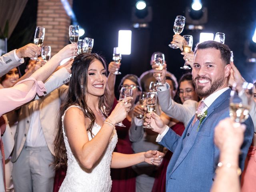
<svg viewBox="0 0 256 192"><path fill-rule="evenodd" d="M79 106L70 106L69 108L71 107L80 108ZM59 192L109 192L112 184L110 164L112 153L117 143L116 130L113 131L109 144L98 160L98 163L91 170L85 170L78 164L68 144L68 138L66 137L63 125L66 111L62 116L62 132L68 156L68 170ZM100 128L101 126L96 123L94 124L92 127L94 136L100 131ZM92 140L90 132L88 132L88 138Z"/></svg>

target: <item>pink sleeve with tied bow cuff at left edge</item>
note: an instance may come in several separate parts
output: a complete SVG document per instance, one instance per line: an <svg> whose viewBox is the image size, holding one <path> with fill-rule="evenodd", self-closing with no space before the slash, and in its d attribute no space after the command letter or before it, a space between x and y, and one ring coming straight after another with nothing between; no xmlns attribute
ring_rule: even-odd
<svg viewBox="0 0 256 192"><path fill-rule="evenodd" d="M15 89L15 85L31 80L35 83L29 92ZM15 85L12 88L0 89L0 116L26 104L35 97L36 93L42 96L46 91L44 83L42 81L36 81L36 79L32 77L22 80Z"/></svg>

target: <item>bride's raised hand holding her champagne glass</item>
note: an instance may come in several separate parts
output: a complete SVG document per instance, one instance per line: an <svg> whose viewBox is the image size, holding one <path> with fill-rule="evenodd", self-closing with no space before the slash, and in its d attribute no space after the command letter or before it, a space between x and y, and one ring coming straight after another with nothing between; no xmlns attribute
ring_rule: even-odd
<svg viewBox="0 0 256 192"><path fill-rule="evenodd" d="M110 120L114 124L121 122L122 120L124 120L124 118L126 118L127 113L129 112L132 106L132 104L130 103L125 104L129 100L132 100L132 97L126 97L124 100L122 100L122 102L119 102L114 108L114 110L111 112L108 118L110 118Z"/></svg>

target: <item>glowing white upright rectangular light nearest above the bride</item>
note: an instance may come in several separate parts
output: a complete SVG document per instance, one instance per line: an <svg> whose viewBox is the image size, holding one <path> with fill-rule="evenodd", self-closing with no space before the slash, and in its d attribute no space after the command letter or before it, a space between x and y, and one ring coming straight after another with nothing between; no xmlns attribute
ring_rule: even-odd
<svg viewBox="0 0 256 192"><path fill-rule="evenodd" d="M119 30L118 32L118 47L122 55L131 54L132 44L132 31L131 30Z"/></svg>

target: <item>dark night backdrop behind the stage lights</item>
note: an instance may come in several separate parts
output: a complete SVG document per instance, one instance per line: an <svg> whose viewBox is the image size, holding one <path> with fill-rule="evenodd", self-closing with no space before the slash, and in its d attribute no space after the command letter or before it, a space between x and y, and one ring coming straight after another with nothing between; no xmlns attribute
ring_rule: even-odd
<svg viewBox="0 0 256 192"><path fill-rule="evenodd" d="M132 7L135 0L74 0L73 10L81 27L86 31L84 37L94 38L93 52L102 54L107 62L112 60L113 47L118 45L118 31L132 30L132 52L122 56L122 75L117 76L117 84L125 74L136 74L150 69L150 56L161 51L166 56L168 70L177 79L186 70L180 50L168 47L172 40L173 23L177 15L185 16L186 7L192 0L145 0L152 7L152 21L149 28L132 28ZM244 0L202 0L208 8L208 22L202 31L186 30L181 35L190 34L194 45L199 41L200 32L223 32L226 34L225 44L234 52L234 63L249 82L256 79L256 63L246 62L245 44L250 42L256 27L256 1ZM33 42L36 28L37 1L28 0L26 8L8 40L8 50ZM68 30L68 29L67 29ZM67 40L67 43L69 41ZM194 49L194 46L193 46ZM256 48L254 50L256 52Z"/></svg>

